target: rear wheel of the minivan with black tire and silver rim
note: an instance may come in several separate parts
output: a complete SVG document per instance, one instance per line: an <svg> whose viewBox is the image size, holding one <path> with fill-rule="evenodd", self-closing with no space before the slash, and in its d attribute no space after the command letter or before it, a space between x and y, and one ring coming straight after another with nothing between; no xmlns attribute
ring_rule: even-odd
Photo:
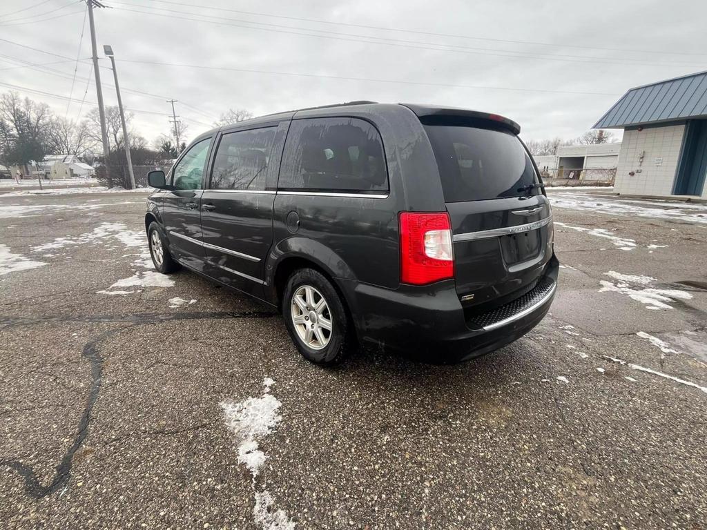
<svg viewBox="0 0 707 530"><path fill-rule="evenodd" d="M292 341L310 363L338 365L354 346L339 293L314 269L292 273L282 299L282 315Z"/></svg>

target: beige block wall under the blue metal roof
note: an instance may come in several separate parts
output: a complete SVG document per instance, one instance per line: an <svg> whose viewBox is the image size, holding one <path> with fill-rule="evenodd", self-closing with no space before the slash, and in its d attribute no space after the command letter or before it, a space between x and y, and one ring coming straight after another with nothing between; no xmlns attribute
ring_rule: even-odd
<svg viewBox="0 0 707 530"><path fill-rule="evenodd" d="M624 131L614 192L626 195L671 195L684 131L684 125ZM642 152L643 163L639 160ZM656 165L656 158L662 158L660 165ZM631 171L635 175L629 175Z"/></svg>

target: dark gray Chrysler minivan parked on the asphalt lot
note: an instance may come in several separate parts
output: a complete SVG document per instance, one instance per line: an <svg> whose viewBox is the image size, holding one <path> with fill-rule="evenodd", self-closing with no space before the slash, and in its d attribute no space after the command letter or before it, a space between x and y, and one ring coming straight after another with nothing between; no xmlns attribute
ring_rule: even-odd
<svg viewBox="0 0 707 530"><path fill-rule="evenodd" d="M549 310L559 264L510 119L352 102L202 134L151 172L153 262L276 307L322 365L356 343L433 362L493 351Z"/></svg>

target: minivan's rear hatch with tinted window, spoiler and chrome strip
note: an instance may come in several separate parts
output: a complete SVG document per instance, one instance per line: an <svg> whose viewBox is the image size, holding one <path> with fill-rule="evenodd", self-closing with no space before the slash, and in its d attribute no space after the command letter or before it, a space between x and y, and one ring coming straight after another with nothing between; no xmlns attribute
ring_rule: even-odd
<svg viewBox="0 0 707 530"><path fill-rule="evenodd" d="M420 117L452 223L457 293L467 314L532 290L552 257L551 210L518 125L492 114Z"/></svg>

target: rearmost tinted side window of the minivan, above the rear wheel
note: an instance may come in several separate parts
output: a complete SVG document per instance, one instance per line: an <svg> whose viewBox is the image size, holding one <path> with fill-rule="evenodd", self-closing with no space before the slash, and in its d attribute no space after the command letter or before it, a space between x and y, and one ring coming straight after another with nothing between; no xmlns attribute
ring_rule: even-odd
<svg viewBox="0 0 707 530"><path fill-rule="evenodd" d="M278 187L339 192L387 191L385 154L378 130L358 118L293 120Z"/></svg>

